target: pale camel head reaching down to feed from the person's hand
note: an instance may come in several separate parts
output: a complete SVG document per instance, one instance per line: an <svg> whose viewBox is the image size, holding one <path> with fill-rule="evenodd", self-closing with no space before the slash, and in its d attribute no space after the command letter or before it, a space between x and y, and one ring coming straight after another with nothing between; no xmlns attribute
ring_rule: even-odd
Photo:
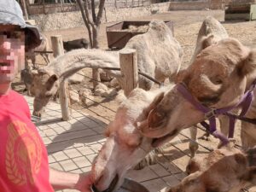
<svg viewBox="0 0 256 192"><path fill-rule="evenodd" d="M143 160L153 143L160 146L160 140L143 137L137 129L137 122L146 119L150 108L163 96L157 91L160 95L137 88L120 104L115 119L108 125L107 141L92 166L95 191L118 189L125 173Z"/></svg>

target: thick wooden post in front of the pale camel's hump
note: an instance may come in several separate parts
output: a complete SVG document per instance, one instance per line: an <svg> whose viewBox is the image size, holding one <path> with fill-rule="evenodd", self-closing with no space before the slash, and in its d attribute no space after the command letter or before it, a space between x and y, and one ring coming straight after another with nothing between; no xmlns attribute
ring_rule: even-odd
<svg viewBox="0 0 256 192"><path fill-rule="evenodd" d="M137 51L136 49L122 49L119 52L119 61L121 73L124 76L122 81L125 96L128 96L131 90L138 86L138 72L137 72Z"/></svg>

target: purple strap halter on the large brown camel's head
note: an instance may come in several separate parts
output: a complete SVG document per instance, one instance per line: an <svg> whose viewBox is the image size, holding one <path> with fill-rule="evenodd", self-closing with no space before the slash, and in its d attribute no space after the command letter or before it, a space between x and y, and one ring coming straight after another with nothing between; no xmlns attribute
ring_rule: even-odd
<svg viewBox="0 0 256 192"><path fill-rule="evenodd" d="M251 103L253 102L253 89L256 86L256 80L253 81L250 89L241 97L240 101L236 103L236 105L227 107L227 108L207 108L206 106L202 105L200 102L197 102L195 98L189 93L185 84L177 84L177 90L182 94L182 96L189 101L195 108L205 114L205 118L209 119L210 125L207 122L201 122L210 133L217 137L222 141L225 145L229 143L229 138L234 137L234 129L236 123L236 115L229 113L230 110L234 108L241 107L241 113L238 117L242 117L247 113L248 108L250 108ZM230 118L230 130L229 130L229 137L224 136L221 132L217 131L216 129L216 116L219 114L227 115Z"/></svg>

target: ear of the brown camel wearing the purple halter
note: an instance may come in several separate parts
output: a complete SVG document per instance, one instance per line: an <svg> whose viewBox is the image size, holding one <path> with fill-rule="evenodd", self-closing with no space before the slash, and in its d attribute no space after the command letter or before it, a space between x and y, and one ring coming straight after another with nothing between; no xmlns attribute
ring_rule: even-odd
<svg viewBox="0 0 256 192"><path fill-rule="evenodd" d="M246 76L254 73L256 69L256 49L250 51L247 58L237 66L237 73L241 76Z"/></svg>

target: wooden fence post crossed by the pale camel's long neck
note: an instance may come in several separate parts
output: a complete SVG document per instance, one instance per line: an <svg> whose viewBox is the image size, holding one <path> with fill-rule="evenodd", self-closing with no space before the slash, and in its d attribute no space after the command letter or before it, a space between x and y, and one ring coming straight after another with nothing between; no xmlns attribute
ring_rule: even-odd
<svg viewBox="0 0 256 192"><path fill-rule="evenodd" d="M51 36L51 44L54 56L64 54L63 43L61 35ZM60 103L61 103L61 113L62 120L71 119L71 110L69 110L69 91L66 79L60 82Z"/></svg>

